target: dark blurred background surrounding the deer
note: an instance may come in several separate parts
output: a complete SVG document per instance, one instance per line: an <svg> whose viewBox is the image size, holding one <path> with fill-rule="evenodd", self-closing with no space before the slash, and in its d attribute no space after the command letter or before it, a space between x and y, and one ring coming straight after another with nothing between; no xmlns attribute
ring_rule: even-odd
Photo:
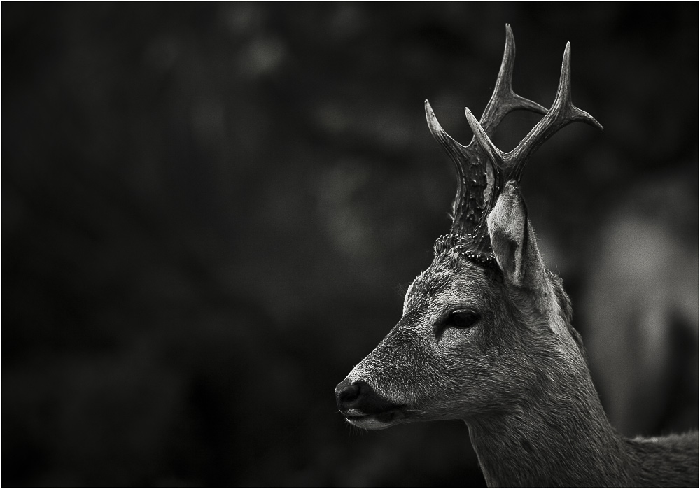
<svg viewBox="0 0 700 489"><path fill-rule="evenodd" d="M449 229L423 100L467 143L506 22L515 90L571 41L605 127L523 183L603 403L697 426L698 3L1 9L3 486L483 484L460 421L351 430L333 389Z"/></svg>

